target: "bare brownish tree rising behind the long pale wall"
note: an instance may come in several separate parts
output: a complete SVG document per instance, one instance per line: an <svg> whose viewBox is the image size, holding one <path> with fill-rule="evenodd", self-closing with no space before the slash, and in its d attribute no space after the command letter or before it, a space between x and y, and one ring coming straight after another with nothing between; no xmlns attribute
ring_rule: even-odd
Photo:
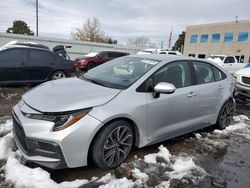
<svg viewBox="0 0 250 188"><path fill-rule="evenodd" d="M83 24L82 28L76 28L71 32L71 35L76 40L90 41L90 42L103 42L116 44L117 40L105 35L101 29L99 20L96 17L88 18Z"/></svg>

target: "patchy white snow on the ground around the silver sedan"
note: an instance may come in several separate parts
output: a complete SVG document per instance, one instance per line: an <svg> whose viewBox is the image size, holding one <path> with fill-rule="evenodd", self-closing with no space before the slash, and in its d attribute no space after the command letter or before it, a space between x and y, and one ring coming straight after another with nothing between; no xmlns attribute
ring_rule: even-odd
<svg viewBox="0 0 250 188"><path fill-rule="evenodd" d="M214 134L237 134L244 138L250 139L250 122L246 116L240 115L234 118L236 124L230 125L225 130L215 130ZM0 124L0 159L6 160L6 164L1 168L4 179L10 185L17 188L73 188L82 185L88 185L92 182L97 183L100 187L150 187L152 179L158 178L153 187L168 188L176 181L186 185L198 184L207 175L205 170L195 164L191 156L175 156L169 150L161 145L159 152L144 156L144 159L135 159L125 166L132 165L129 169L130 176L117 178L115 174L108 173L105 176L92 178L91 180L75 180L71 182L56 183L50 178L50 174L42 168L29 168L22 164L22 157L19 151L13 152L13 135L10 132L12 122L10 120ZM207 133L207 136L209 133ZM203 137L201 134L195 134L196 139L214 149L221 147L223 143ZM175 181L173 181L175 180ZM1 183L0 183L1 185ZM151 186L152 187L152 186Z"/></svg>

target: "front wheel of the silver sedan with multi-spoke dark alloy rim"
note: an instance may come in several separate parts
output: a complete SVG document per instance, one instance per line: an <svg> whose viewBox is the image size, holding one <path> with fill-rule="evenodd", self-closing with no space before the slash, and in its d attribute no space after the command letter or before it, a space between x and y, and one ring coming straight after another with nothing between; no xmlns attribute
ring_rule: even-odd
<svg viewBox="0 0 250 188"><path fill-rule="evenodd" d="M134 131L127 121L115 121L105 126L92 145L93 162L103 170L123 163L134 143Z"/></svg>

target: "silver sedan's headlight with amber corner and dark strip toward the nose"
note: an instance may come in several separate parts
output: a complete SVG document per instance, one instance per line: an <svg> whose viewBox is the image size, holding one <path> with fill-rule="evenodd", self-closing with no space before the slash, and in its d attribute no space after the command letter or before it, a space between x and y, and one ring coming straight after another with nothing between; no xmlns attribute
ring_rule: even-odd
<svg viewBox="0 0 250 188"><path fill-rule="evenodd" d="M39 120L45 120L45 121L52 121L55 123L53 131L60 131L63 129L66 129L67 127L73 125L77 121L79 121L81 118L83 118L88 112L91 110L91 108L68 113L68 114L29 114L24 113L23 115L27 118L31 119L39 119Z"/></svg>

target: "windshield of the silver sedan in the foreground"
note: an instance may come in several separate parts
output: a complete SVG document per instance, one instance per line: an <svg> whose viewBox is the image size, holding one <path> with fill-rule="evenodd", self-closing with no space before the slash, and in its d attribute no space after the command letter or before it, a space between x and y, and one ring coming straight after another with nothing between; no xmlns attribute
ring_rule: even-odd
<svg viewBox="0 0 250 188"><path fill-rule="evenodd" d="M158 63L158 60L122 57L91 69L82 78L105 87L126 89Z"/></svg>

